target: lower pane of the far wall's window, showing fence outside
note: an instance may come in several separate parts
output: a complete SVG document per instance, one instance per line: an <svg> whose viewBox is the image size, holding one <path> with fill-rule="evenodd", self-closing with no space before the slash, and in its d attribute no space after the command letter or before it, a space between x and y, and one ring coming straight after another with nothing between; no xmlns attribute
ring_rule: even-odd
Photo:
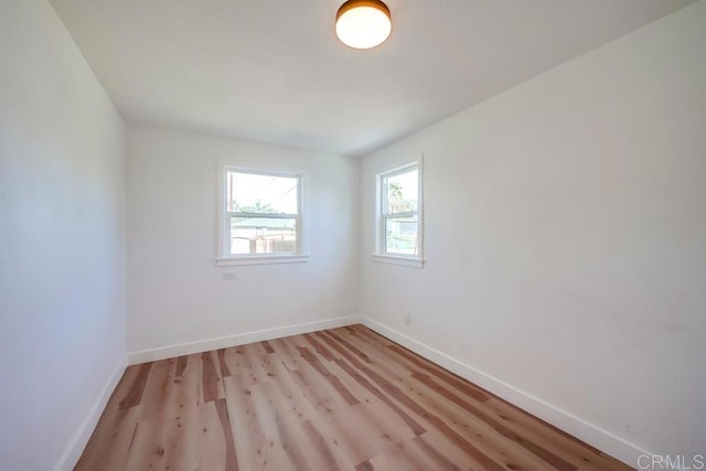
<svg viewBox="0 0 706 471"><path fill-rule="evenodd" d="M296 218L231 217L231 255L296 251Z"/></svg>

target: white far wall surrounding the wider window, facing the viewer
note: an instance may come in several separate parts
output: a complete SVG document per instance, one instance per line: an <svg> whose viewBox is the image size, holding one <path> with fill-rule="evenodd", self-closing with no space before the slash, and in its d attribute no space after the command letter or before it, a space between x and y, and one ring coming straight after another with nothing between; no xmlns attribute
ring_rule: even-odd
<svg viewBox="0 0 706 471"><path fill-rule="evenodd" d="M357 313L359 161L137 125L127 146L128 351ZM308 170L309 263L215 266L218 161Z"/></svg>

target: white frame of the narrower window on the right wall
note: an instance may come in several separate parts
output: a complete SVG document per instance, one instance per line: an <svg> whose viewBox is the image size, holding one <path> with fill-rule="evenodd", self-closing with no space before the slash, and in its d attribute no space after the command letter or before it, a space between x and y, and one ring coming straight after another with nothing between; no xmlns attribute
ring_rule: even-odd
<svg viewBox="0 0 706 471"><path fill-rule="evenodd" d="M400 167L396 167L384 172L379 172L376 175L376 194L375 194L375 254L373 254L373 261L383 264L403 265L407 267L424 268L424 172L422 160L419 159L414 162L406 163ZM386 220L393 214L387 214L387 189L385 188L385 179L406 173L410 170L417 170L417 191L418 202L417 211L408 213L394 213L395 217L399 216L413 216L417 215L418 218L418 233L417 233L417 255L403 255L391 254L385 249L386 246Z"/></svg>

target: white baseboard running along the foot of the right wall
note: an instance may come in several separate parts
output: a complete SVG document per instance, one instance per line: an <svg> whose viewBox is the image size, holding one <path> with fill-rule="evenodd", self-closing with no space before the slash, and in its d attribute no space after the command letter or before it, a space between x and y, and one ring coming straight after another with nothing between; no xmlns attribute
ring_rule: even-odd
<svg viewBox="0 0 706 471"><path fill-rule="evenodd" d="M386 338L394 340L418 355L443 366L445 368L493 393L533 416L552 424L558 429L573 435L579 440L596 447L597 449L623 461L627 464L630 464L633 468L638 468L638 459L641 454L651 454L650 452L640 449L640 447L632 445L622 438L601 429L600 427L589 424L584 419L524 393L501 379L483 373L473 366L467 365L466 363L397 332L385 324L364 315L361 315L360 320L365 327L374 330L381 335L385 335Z"/></svg>

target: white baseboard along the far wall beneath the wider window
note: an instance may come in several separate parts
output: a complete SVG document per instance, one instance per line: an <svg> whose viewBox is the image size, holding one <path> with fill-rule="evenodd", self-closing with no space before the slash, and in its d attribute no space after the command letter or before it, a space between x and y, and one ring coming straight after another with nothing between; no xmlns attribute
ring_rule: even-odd
<svg viewBox="0 0 706 471"><path fill-rule="evenodd" d="M344 318L324 319L322 321L306 322L284 328L264 329L196 342L180 343L176 345L159 346L157 349L139 350L137 352L128 353L128 363L130 365L135 365L145 362L156 362L158 360L191 355L193 353L207 352L210 350L226 349L228 346L244 345L246 343L261 342L264 340L279 339L288 335L298 335L323 329L334 329L359 322L361 322L361 318L359 315L347 315Z"/></svg>

